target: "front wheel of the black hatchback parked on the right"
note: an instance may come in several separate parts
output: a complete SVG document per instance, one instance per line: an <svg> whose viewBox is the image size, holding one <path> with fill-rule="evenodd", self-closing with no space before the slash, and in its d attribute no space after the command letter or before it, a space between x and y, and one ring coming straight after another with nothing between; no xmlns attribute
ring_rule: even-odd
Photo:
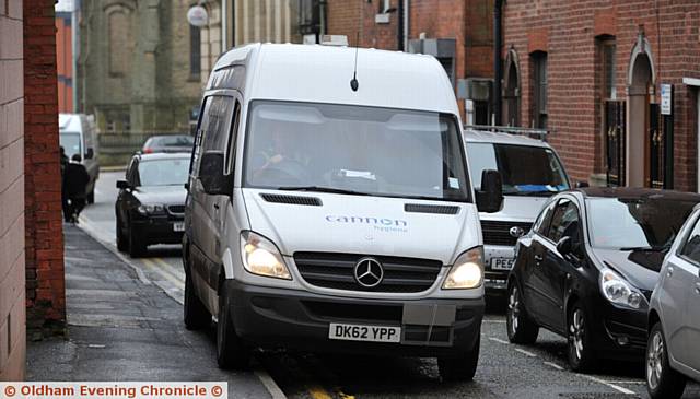
<svg viewBox="0 0 700 399"><path fill-rule="evenodd" d="M567 320L569 365L574 372L591 372L596 363L593 348L591 348L591 318L588 318L582 305L574 303Z"/></svg>

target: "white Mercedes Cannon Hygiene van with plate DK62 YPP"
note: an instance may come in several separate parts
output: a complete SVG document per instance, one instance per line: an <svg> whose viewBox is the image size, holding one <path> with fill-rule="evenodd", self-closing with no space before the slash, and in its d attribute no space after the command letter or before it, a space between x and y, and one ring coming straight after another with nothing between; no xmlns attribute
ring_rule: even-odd
<svg viewBox="0 0 700 399"><path fill-rule="evenodd" d="M357 60L357 75L355 75ZM355 79L357 77L357 79ZM429 56L256 44L206 87L185 213L185 324L249 349L435 356L471 379L483 315L477 202L450 81Z"/></svg>

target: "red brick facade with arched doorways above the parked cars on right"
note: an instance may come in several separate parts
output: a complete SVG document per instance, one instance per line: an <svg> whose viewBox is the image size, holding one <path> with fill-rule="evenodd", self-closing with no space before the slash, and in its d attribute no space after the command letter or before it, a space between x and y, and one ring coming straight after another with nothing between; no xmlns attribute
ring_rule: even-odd
<svg viewBox="0 0 700 399"><path fill-rule="evenodd" d="M614 40L616 46L614 81L617 99L627 104L628 145L639 140L630 137L631 127L644 125L638 120L640 114L630 109L629 94L635 93L630 80L638 70L637 63L634 68L630 63L640 49L651 49L642 50L653 70L649 101L660 102L662 83L675 89L673 186L698 189L698 89L684 84L684 78L700 78L700 7L696 0L509 0L503 30L504 59L515 52L518 60L523 126L534 119L530 54L547 52L547 128L552 131L550 142L575 179L606 171L602 42ZM649 173L639 171L649 167L643 149L629 154L627 161L637 162L629 164L628 176ZM649 185L649 177L644 184Z"/></svg>

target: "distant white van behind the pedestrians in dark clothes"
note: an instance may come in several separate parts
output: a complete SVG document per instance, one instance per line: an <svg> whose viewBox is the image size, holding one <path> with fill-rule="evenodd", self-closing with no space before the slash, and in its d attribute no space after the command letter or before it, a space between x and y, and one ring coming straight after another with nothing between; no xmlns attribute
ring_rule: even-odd
<svg viewBox="0 0 700 399"><path fill-rule="evenodd" d="M97 129L92 116L84 114L58 114L58 131L60 145L66 156L81 156L81 163L88 169L90 183L85 188L88 203L95 202L95 184L100 176L97 160Z"/></svg>

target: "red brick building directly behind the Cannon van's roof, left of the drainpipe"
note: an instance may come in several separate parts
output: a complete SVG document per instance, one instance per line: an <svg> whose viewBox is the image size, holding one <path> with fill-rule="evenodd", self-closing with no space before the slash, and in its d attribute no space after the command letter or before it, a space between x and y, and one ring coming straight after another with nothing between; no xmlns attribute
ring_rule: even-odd
<svg viewBox="0 0 700 399"><path fill-rule="evenodd" d="M445 67L465 121L491 118L493 0L327 0L328 34L350 45L429 54Z"/></svg>

